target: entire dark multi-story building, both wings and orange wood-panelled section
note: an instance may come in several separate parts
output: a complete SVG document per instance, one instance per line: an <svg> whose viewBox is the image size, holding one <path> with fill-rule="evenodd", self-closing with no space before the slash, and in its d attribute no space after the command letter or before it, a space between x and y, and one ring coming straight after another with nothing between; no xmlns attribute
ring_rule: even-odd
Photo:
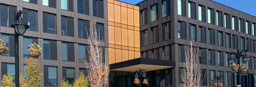
<svg viewBox="0 0 256 87"><path fill-rule="evenodd" d="M144 0L131 5L117 0L0 0L0 38L9 51L0 56L0 77L15 75L14 11L22 10L30 26L19 36L20 73L28 57L27 46L38 43L44 87L60 86L87 75L87 31L97 20L110 64L109 87L136 87L134 74L145 69L144 87L180 87L184 73L184 47L192 42L205 75L202 87L213 86L222 76L226 87L235 87L238 73L227 59L237 49L251 56L242 73L242 87L256 82L256 17L211 0ZM207 61L208 60L208 61ZM1 80L1 78L0 78Z"/></svg>

